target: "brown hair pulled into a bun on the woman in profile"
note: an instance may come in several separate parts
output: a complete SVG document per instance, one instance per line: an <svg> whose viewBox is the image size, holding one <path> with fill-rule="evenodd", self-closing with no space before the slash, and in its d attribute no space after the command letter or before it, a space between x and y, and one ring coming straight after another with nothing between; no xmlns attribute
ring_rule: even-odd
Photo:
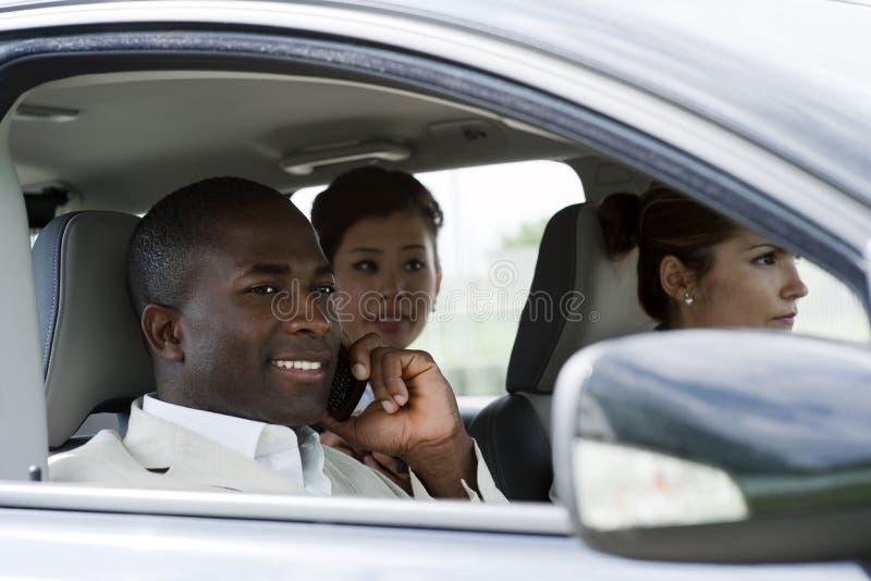
<svg viewBox="0 0 871 581"><path fill-rule="evenodd" d="M612 194L599 205L599 221L611 258L638 246L638 299L645 311L666 326L674 301L660 284L660 263L673 255L695 274L714 264L712 247L735 236L741 226L662 184L641 194Z"/></svg>

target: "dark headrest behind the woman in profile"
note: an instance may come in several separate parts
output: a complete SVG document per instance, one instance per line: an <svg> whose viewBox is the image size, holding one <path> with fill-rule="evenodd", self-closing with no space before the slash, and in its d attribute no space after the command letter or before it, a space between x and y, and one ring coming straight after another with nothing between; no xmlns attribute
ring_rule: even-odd
<svg viewBox="0 0 871 581"><path fill-rule="evenodd" d="M651 331L638 301L638 250L608 258L597 205L556 212L539 246L529 299L508 362L510 393L552 393L563 363L610 337Z"/></svg>

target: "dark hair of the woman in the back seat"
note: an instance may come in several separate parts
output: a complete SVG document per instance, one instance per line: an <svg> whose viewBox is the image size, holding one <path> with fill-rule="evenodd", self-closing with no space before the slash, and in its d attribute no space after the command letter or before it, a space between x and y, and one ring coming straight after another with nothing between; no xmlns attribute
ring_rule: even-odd
<svg viewBox="0 0 871 581"><path fill-rule="evenodd" d="M444 217L432 194L409 173L366 166L340 175L315 198L311 224L323 254L332 262L351 226L366 218L406 211L417 212L424 219L432 234L436 268L441 270L436 242Z"/></svg>

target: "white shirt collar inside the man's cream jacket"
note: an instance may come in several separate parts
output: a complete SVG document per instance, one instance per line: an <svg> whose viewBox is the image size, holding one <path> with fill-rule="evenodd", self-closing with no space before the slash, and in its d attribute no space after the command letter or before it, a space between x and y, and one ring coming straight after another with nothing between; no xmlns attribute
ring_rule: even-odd
<svg viewBox="0 0 871 581"><path fill-rule="evenodd" d="M286 425L176 406L154 394L145 396L143 410L267 466L309 494L330 495L330 479L323 473L323 448L310 428L294 431Z"/></svg>

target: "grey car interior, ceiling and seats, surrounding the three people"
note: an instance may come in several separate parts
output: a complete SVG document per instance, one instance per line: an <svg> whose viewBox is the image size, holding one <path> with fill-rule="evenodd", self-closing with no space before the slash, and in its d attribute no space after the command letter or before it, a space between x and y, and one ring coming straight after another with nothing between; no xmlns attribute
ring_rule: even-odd
<svg viewBox="0 0 871 581"><path fill-rule="evenodd" d="M585 201L548 223L530 297L580 293L597 318L548 317L528 301L505 395L464 410L510 499L549 500L562 363L597 341L653 327L635 298L636 257L605 257L596 215L598 199L640 191L649 178L480 107L326 74L112 72L26 92L9 144L30 227L41 228L33 262L53 452L86 440L75 434L93 413L118 413L123 430L130 401L154 390L126 294L126 240L136 214L209 176L241 175L290 195L363 163L415 173L547 159L577 172ZM498 207L495 194L481 195Z"/></svg>

